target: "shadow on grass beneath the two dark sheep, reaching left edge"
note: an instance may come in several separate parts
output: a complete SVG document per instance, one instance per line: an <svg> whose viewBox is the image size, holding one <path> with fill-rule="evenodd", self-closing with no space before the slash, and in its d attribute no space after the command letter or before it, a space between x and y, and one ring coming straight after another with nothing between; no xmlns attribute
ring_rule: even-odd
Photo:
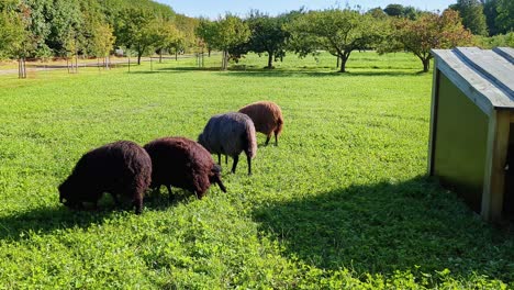
<svg viewBox="0 0 514 290"><path fill-rule="evenodd" d="M186 191L174 189L174 200L169 201L168 194L152 192L145 197L143 214L146 210L164 211L170 207L185 202L188 197ZM38 208L27 212L0 217L0 239L22 239L29 232L41 234L55 230L71 227L89 227L91 224L102 224L116 213L134 214L134 209L127 204L121 208L114 207L110 194L104 194L100 200L98 210L71 210L63 204L53 208Z"/></svg>

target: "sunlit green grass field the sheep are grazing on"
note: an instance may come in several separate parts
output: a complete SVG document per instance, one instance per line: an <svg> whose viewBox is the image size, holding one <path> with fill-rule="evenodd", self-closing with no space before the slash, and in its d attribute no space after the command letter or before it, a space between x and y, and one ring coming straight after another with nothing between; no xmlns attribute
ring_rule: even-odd
<svg viewBox="0 0 514 290"><path fill-rule="evenodd" d="M432 75L411 55L288 55L277 69L219 56L110 71L0 76L0 288L505 289L514 234L483 223L426 174ZM144 213L74 212L57 186L118 140L195 140L213 114L281 105L279 146L228 192L166 189Z"/></svg>

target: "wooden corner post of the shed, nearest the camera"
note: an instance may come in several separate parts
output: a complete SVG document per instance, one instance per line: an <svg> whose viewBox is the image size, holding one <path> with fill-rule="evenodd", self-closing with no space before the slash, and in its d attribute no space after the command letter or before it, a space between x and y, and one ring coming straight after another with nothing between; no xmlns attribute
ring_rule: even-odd
<svg viewBox="0 0 514 290"><path fill-rule="evenodd" d="M481 212L487 221L498 222L502 217L510 121L509 111L494 111L489 120Z"/></svg>

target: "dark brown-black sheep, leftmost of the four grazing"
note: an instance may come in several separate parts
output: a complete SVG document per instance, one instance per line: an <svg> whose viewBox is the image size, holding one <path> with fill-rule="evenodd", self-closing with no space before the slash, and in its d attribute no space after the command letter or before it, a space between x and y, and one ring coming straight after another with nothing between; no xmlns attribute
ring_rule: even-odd
<svg viewBox="0 0 514 290"><path fill-rule="evenodd" d="M109 192L116 205L119 197L130 198L139 214L150 178L152 159L146 150L134 142L119 141L86 153L59 186L59 200L68 208L82 209L82 202L97 208L103 192Z"/></svg>

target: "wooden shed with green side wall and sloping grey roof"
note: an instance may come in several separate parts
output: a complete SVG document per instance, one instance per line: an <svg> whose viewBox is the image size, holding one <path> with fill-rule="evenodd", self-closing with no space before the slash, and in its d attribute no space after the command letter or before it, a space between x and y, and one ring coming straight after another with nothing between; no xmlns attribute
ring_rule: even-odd
<svg viewBox="0 0 514 290"><path fill-rule="evenodd" d="M512 219L514 48L458 47L432 54L428 172L484 220Z"/></svg>

